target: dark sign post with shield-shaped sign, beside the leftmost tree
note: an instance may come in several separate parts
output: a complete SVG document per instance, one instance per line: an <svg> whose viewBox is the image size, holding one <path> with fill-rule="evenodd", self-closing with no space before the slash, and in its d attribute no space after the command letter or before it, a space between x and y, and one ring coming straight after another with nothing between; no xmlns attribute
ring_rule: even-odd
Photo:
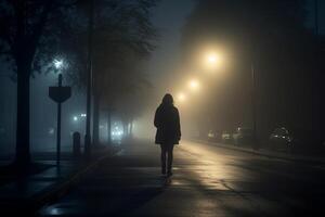
<svg viewBox="0 0 325 217"><path fill-rule="evenodd" d="M61 159L61 104L72 97L72 88L62 86L62 74L58 75L58 86L49 87L49 97L57 103L57 127L56 127L56 165Z"/></svg>

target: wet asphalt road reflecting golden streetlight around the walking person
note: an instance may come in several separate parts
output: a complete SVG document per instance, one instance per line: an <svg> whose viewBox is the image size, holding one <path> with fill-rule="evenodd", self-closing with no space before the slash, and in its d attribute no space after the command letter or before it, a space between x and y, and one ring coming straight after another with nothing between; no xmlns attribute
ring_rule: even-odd
<svg viewBox="0 0 325 217"><path fill-rule="evenodd" d="M325 165L183 141L173 176L159 148L126 145L40 216L325 216Z"/></svg>

